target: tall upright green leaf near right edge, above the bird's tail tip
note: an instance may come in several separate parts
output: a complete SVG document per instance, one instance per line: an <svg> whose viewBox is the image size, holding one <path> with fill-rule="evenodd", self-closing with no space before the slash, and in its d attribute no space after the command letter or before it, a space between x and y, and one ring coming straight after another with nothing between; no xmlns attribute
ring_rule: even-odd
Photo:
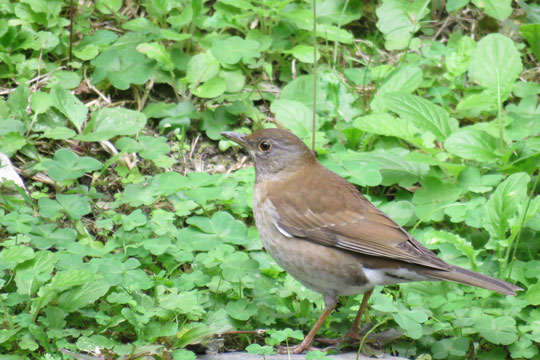
<svg viewBox="0 0 540 360"><path fill-rule="evenodd" d="M512 174L497 186L489 198L486 204L488 221L484 224L484 228L495 240L506 238L509 220L517 214L527 196L529 180L529 175L525 173Z"/></svg>

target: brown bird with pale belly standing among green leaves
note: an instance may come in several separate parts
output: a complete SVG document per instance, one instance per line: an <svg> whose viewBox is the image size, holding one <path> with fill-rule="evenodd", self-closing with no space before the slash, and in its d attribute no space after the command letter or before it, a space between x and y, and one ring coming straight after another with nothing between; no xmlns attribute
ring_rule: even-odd
<svg viewBox="0 0 540 360"><path fill-rule="evenodd" d="M454 281L516 295L519 286L446 263L375 207L350 182L324 167L292 132L266 128L221 133L247 150L255 166L253 215L266 251L287 273L320 294L325 309L301 353L336 307L338 296L363 293L346 337L373 288L411 281Z"/></svg>

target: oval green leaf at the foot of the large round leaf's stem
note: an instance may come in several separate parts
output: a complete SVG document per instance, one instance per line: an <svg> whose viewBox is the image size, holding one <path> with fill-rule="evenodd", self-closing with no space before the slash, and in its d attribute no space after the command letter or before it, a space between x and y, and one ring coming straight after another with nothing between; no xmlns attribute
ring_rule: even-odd
<svg viewBox="0 0 540 360"><path fill-rule="evenodd" d="M467 160L491 162L499 158L497 139L484 131L465 128L450 135L444 148Z"/></svg>

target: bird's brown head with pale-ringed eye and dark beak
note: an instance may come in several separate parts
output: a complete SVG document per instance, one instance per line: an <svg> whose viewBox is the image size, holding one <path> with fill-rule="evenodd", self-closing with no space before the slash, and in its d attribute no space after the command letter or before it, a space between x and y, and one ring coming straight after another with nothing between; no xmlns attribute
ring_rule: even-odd
<svg viewBox="0 0 540 360"><path fill-rule="evenodd" d="M283 129L263 129L246 135L221 133L242 145L255 162L256 181L285 178L316 162L315 155L296 135Z"/></svg>

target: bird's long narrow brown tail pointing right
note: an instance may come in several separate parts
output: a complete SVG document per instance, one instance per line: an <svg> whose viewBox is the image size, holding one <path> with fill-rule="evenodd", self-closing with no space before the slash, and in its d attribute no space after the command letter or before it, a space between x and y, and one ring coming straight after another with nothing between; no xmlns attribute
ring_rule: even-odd
<svg viewBox="0 0 540 360"><path fill-rule="evenodd" d="M517 285L510 284L506 281L495 279L471 270L463 269L458 266L452 266L452 269L448 271L426 269L421 271L421 273L439 280L450 280L462 284L477 286L491 291L496 291L504 295L516 295L516 291L523 290Z"/></svg>

